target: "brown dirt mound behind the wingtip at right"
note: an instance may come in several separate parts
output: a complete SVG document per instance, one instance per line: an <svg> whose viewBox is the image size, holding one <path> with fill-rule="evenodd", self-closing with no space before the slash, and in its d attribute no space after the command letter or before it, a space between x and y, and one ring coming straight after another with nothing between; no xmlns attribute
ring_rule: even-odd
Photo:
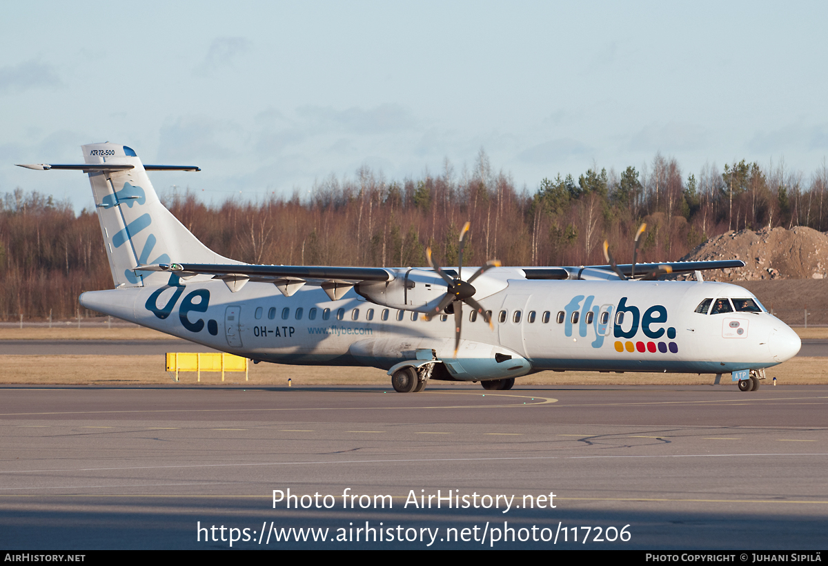
<svg viewBox="0 0 828 566"><path fill-rule="evenodd" d="M828 235L805 226L730 231L707 240L681 261L716 259L741 259L745 266L708 271L705 279L735 282L828 278Z"/></svg>

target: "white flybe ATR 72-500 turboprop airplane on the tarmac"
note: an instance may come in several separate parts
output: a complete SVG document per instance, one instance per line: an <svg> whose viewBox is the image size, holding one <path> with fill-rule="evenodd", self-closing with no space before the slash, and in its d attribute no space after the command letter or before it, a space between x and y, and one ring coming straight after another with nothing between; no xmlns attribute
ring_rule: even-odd
<svg viewBox="0 0 828 566"><path fill-rule="evenodd" d="M739 260L636 264L643 226L623 265L604 243L607 265L464 268L468 224L453 268L431 250L430 268L244 264L196 239L147 177L198 167L143 165L116 143L83 153L83 164L21 166L89 175L114 288L80 304L256 363L373 366L401 393L429 380L511 389L542 370L698 373L717 384L730 374L751 391L802 344L752 293L701 276ZM659 279L667 273L696 280Z"/></svg>

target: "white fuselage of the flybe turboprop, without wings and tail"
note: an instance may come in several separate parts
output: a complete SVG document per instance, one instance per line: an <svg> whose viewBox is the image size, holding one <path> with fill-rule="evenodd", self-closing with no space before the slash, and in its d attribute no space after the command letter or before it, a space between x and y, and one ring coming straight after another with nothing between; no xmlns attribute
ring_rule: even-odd
<svg viewBox="0 0 828 566"><path fill-rule="evenodd" d="M413 359L416 351L433 350L460 380L537 370L720 374L777 365L801 344L768 312L695 312L708 298L753 298L735 285L518 278L507 283L479 301L492 312L493 330L482 317L471 322L465 307L456 358L454 315L426 321L420 313L383 307L353 291L331 301L320 288L285 297L270 283L251 282L231 293L223 282L208 280L89 292L80 300L95 311L253 360L388 369ZM511 358L495 362L497 354Z"/></svg>

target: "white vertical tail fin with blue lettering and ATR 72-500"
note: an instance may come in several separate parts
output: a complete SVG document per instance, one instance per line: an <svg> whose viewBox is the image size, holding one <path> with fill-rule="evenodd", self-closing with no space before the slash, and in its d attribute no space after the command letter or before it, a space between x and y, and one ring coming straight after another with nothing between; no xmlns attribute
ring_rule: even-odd
<svg viewBox="0 0 828 566"><path fill-rule="evenodd" d="M208 249L166 210L158 200L141 160L131 148L117 143L93 143L84 145L83 149L87 165L132 166L123 171L88 171L116 287L167 282L169 275L166 273L133 271L144 264L238 263Z"/></svg>

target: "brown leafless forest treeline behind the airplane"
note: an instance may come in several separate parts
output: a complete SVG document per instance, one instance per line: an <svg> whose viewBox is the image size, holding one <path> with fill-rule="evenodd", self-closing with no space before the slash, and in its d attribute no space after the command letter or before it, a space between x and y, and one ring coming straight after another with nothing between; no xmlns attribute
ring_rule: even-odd
<svg viewBox="0 0 828 566"><path fill-rule="evenodd" d="M441 264L454 265L469 220L467 265L582 265L605 263L604 239L619 263L631 261L642 221L643 261L679 259L728 230L828 230L826 189L824 163L810 176L746 160L686 174L661 154L641 170L591 167L518 188L481 150L460 173L447 160L439 174L400 181L362 167L353 178L317 182L304 198L162 200L209 248L248 263L421 266L431 246ZM2 319L74 317L80 293L112 287L94 210L75 215L70 202L20 188L0 207Z"/></svg>

